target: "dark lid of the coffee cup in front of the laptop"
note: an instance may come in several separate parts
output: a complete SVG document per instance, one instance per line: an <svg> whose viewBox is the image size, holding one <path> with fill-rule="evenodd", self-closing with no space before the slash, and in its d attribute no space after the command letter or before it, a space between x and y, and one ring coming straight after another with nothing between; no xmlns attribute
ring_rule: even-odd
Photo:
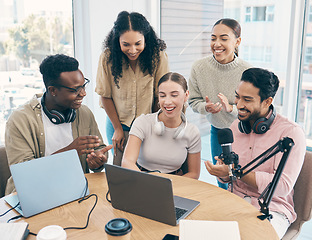
<svg viewBox="0 0 312 240"><path fill-rule="evenodd" d="M112 236L126 235L132 230L132 225L125 218L114 218L105 225L105 232Z"/></svg>

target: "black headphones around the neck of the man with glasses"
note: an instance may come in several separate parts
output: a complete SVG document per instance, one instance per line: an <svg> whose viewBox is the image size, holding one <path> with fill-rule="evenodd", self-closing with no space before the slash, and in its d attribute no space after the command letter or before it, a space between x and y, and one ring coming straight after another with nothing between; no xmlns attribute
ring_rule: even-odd
<svg viewBox="0 0 312 240"><path fill-rule="evenodd" d="M48 116L48 118L50 119L52 123L54 124L70 123L75 120L76 118L75 109L69 108L66 114L63 114L56 110L49 111L47 107L45 106L45 96L46 96L46 93L44 93L41 98L41 105L42 105L44 113Z"/></svg>

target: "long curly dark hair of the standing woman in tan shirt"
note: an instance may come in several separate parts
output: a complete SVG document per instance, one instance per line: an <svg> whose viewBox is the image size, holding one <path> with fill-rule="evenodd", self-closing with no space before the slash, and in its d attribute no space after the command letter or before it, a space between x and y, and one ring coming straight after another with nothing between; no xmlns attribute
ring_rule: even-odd
<svg viewBox="0 0 312 240"><path fill-rule="evenodd" d="M120 35L130 30L141 33L145 38L146 45L139 56L142 72L147 70L152 75L160 59L159 52L166 49L166 43L157 37L154 29L142 14L127 11L120 12L113 28L103 42L103 49L109 49L110 51L108 60L112 63L111 70L118 88L118 79L122 77L123 59L126 60L129 67L129 60L121 51L119 38Z"/></svg>

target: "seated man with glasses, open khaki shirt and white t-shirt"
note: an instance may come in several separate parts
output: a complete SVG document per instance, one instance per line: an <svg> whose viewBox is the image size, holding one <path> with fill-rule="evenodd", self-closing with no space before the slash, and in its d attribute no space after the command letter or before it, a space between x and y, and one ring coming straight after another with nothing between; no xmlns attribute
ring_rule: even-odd
<svg viewBox="0 0 312 240"><path fill-rule="evenodd" d="M63 54L42 61L46 92L13 111L6 124L9 165L76 149L85 173L103 169L112 146L103 143L94 115L82 104L90 80L78 67L75 58ZM14 191L11 177L6 194Z"/></svg>

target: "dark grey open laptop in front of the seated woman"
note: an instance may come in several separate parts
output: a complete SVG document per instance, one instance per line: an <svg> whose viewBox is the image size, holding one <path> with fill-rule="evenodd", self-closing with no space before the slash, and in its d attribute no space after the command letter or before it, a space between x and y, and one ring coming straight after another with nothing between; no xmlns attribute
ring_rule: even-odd
<svg viewBox="0 0 312 240"><path fill-rule="evenodd" d="M173 196L171 179L105 164L112 206L169 225L177 225L198 201Z"/></svg>

